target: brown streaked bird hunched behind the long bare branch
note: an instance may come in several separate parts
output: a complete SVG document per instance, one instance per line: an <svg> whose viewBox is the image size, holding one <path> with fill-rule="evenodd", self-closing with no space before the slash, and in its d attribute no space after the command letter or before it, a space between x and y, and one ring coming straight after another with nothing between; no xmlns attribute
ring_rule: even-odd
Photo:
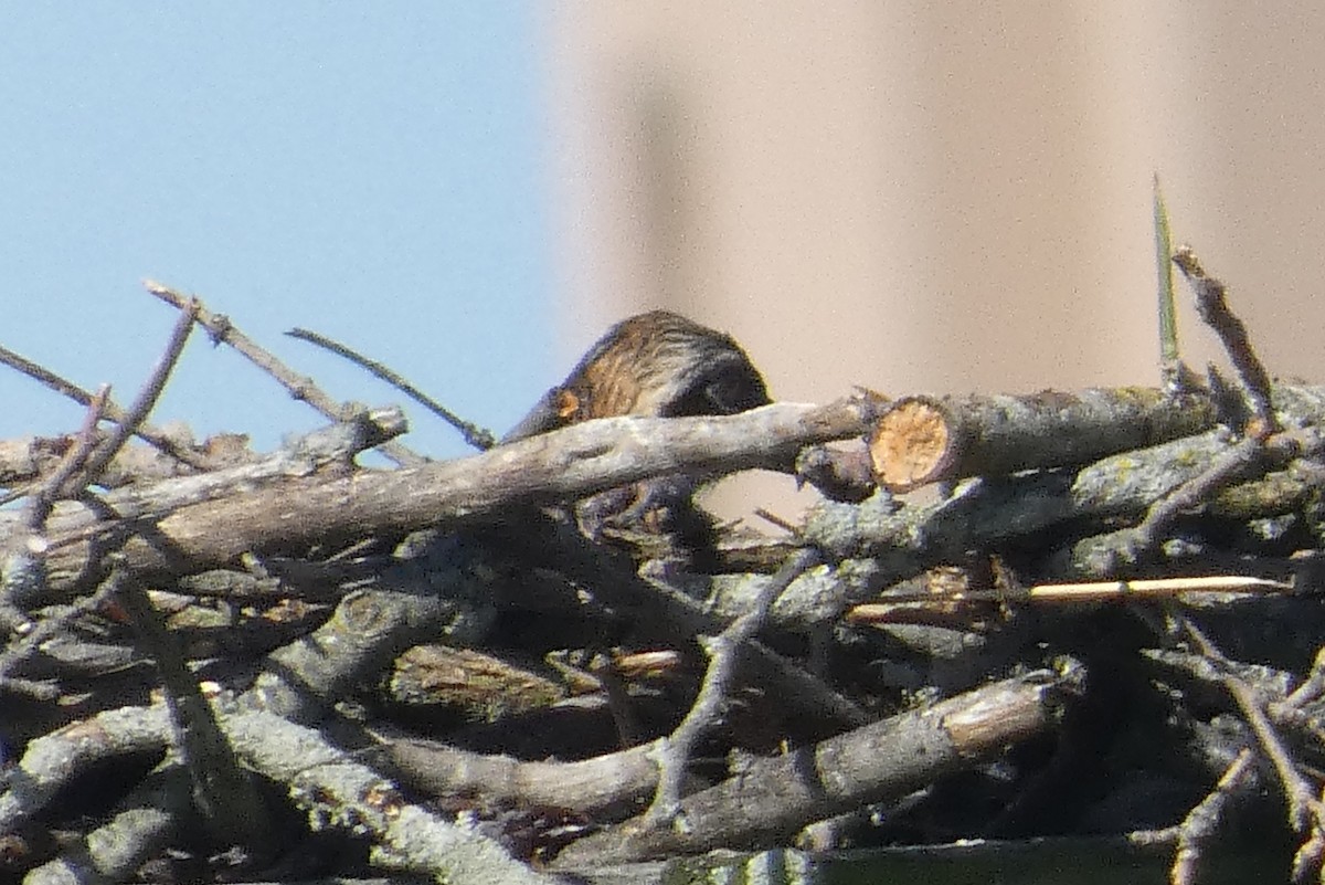
<svg viewBox="0 0 1325 885"><path fill-rule="evenodd" d="M750 356L730 335L669 310L616 323L511 428L514 443L598 417L735 415L771 401ZM713 477L673 473L575 502L594 541L611 537L647 558L710 562L714 518L694 503Z"/></svg>

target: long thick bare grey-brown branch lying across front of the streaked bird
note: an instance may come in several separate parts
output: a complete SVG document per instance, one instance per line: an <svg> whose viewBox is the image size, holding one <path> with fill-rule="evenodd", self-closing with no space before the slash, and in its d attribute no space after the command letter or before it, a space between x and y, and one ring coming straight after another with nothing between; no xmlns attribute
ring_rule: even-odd
<svg viewBox="0 0 1325 885"><path fill-rule="evenodd" d="M159 576L228 566L245 552L297 552L311 543L356 541L370 531L492 521L513 502L554 503L682 466L783 464L806 444L859 432L861 420L852 401L779 403L702 419L598 419L457 461L298 477L186 506L144 537L131 538L125 551L135 572ZM65 531L52 530L52 543L72 539L86 525L86 514L72 514L61 525ZM0 537L5 534L0 513ZM94 552L85 541L54 550L48 559L52 588L69 586Z"/></svg>

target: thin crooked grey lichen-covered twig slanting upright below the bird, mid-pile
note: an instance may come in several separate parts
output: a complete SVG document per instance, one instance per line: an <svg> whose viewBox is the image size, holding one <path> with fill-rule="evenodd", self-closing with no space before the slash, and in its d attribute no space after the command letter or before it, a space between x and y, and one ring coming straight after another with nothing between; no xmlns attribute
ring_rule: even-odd
<svg viewBox="0 0 1325 885"><path fill-rule="evenodd" d="M737 653L741 644L759 632L768 617L768 609L772 608L772 603L782 595L782 591L807 568L816 564L819 558L819 552L810 548L800 550L791 556L761 588L750 609L705 644L704 651L709 654L709 668L704 674L700 693L676 731L659 743L659 786L653 795L653 804L645 813L648 824L668 825L676 817L681 803L681 782L685 778L690 751L694 749L696 741L722 713L722 705L727 700L727 690L735 674Z"/></svg>

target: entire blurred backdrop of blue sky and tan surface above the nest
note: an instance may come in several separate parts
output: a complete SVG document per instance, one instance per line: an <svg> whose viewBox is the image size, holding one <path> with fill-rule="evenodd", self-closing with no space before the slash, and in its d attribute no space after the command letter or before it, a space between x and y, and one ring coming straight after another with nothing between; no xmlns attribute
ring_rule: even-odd
<svg viewBox="0 0 1325 885"><path fill-rule="evenodd" d="M498 432L655 306L779 399L1153 384L1158 174L1272 371L1320 379L1322 60L1305 3L11 8L0 343L129 400L174 321L155 277L334 396L399 399L285 329ZM0 393L0 437L77 427ZM203 339L170 419L319 424Z"/></svg>

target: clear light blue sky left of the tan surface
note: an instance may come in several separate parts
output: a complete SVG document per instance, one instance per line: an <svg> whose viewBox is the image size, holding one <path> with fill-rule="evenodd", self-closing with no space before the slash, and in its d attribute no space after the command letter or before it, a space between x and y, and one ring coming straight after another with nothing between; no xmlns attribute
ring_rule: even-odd
<svg viewBox="0 0 1325 885"><path fill-rule="evenodd" d="M9 4L0 343L127 404L199 294L343 400L400 401L315 329L498 432L554 378L537 8ZM0 367L0 439L81 408ZM419 409L407 441L466 449ZM195 334L155 423L258 448L322 423Z"/></svg>

